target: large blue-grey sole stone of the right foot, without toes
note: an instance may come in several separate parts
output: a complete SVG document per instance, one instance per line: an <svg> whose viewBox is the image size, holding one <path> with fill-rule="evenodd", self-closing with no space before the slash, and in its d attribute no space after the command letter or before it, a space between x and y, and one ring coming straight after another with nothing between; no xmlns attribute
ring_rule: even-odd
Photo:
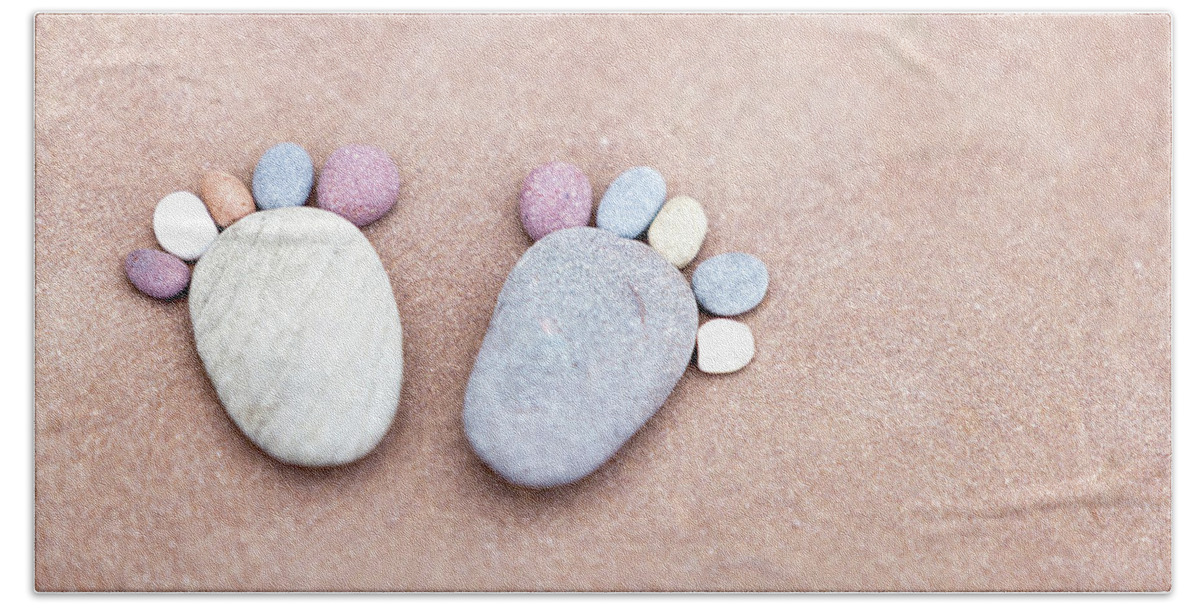
<svg viewBox="0 0 1200 608"><path fill-rule="evenodd" d="M576 481L662 405L697 324L686 279L644 243L551 233L500 290L467 383L467 439L511 483Z"/></svg>

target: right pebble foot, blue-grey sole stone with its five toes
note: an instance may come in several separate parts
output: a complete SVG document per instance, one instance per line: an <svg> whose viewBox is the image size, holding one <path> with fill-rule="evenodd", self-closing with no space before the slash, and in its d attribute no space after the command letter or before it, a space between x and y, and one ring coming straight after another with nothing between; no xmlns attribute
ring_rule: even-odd
<svg viewBox="0 0 1200 608"><path fill-rule="evenodd" d="M680 272L708 231L701 204L667 201L650 167L622 173L588 227L592 187L552 162L526 177L521 223L534 240L504 282L463 398L475 453L511 483L547 488L600 468L653 416L692 354L702 372L754 357L744 314L766 296L766 265L748 253ZM648 246L638 239L644 236Z"/></svg>

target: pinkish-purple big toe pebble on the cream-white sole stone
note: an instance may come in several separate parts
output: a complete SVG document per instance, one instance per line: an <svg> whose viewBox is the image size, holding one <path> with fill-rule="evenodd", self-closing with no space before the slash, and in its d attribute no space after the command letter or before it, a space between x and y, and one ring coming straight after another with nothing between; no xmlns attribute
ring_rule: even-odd
<svg viewBox="0 0 1200 608"><path fill-rule="evenodd" d="M354 225L379 219L400 198L400 169L373 145L343 145L329 155L317 181L317 206Z"/></svg>

